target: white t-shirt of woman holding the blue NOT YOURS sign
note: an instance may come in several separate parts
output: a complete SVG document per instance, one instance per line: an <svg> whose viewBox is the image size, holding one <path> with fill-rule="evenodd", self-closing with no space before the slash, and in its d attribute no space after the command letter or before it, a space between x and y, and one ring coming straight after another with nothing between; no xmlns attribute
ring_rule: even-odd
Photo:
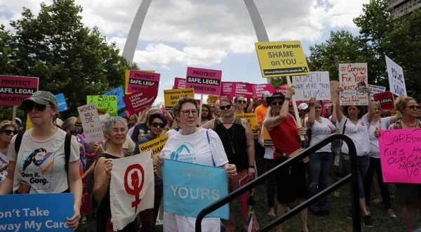
<svg viewBox="0 0 421 232"><path fill-rule="evenodd" d="M210 142L208 142L206 136L207 130L201 127L199 127L198 131L189 135L182 135L175 130L170 131L168 131L168 141L161 150L161 156L164 159L208 166L214 166L213 162L215 162L215 166L222 166L228 163L227 154L215 131L208 130ZM164 212L163 231L194 231L195 224L196 218L194 217L184 217L178 214ZM203 219L202 231L219 232L220 219L212 217Z"/></svg>

